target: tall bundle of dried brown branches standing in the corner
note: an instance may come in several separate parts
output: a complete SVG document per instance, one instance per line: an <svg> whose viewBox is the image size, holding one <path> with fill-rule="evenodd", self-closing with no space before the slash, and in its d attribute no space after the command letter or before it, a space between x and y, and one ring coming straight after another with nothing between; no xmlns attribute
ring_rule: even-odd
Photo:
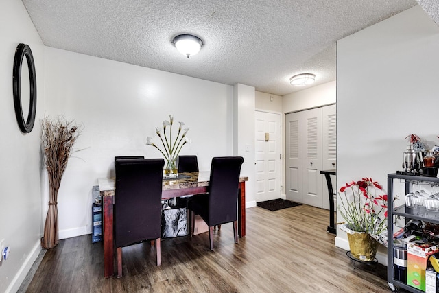
<svg viewBox="0 0 439 293"><path fill-rule="evenodd" d="M41 123L41 143L49 177L49 210L41 239L41 246L46 249L58 245L58 189L81 130L73 120L64 117L45 117Z"/></svg>

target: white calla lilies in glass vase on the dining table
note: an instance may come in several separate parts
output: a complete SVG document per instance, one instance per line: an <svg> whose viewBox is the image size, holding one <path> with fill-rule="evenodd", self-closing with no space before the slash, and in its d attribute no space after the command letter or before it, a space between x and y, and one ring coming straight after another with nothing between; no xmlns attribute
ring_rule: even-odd
<svg viewBox="0 0 439 293"><path fill-rule="evenodd" d="M156 134L162 142L163 150L152 143L152 137L147 137L146 144L152 145L165 157L166 162L163 169L163 176L165 176L165 178L175 178L178 176L178 154L180 154L180 150L183 145L190 142L190 139L186 137L186 133L189 131L189 128L182 129L182 126L184 126L185 123L178 123L180 124L180 127L178 127L178 133L174 141L172 140L172 125L174 124L174 117L172 117L172 115L169 115L169 121L163 121L163 133L161 132L160 128L156 127ZM169 134L166 133L166 128L169 129Z"/></svg>

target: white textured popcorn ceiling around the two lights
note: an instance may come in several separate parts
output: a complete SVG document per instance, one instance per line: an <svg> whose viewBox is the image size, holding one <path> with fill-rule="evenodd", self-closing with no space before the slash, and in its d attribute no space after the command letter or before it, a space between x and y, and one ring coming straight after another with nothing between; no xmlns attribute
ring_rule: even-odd
<svg viewBox="0 0 439 293"><path fill-rule="evenodd" d="M418 0L437 8L436 0ZM23 0L49 47L285 95L297 73L335 80L336 41L415 0ZM433 9L434 10L434 9ZM437 9L436 9L437 11ZM186 58L171 40L195 34Z"/></svg>

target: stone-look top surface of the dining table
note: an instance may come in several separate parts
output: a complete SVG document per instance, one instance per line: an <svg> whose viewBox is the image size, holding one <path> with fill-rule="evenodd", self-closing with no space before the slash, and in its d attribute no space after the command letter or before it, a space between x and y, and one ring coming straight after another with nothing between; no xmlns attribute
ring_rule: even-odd
<svg viewBox="0 0 439 293"><path fill-rule="evenodd" d="M184 189L189 187L207 187L211 173L209 171L180 173L186 175L185 178L163 180L163 190ZM189 176L189 178L187 178ZM239 182L248 181L247 176L240 176ZM115 178L98 178L99 191L102 196L115 195Z"/></svg>

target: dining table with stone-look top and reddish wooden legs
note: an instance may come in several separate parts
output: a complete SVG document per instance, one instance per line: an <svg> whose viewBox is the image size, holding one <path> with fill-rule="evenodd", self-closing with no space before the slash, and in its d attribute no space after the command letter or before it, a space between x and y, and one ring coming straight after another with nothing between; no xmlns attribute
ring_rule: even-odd
<svg viewBox="0 0 439 293"><path fill-rule="evenodd" d="M162 200L204 194L209 189L210 172L179 173L176 178L163 178ZM115 178L98 178L99 194L103 202L103 241L104 241L104 277L112 277L115 272L113 208L115 204ZM238 193L238 235L246 236L246 181L248 177L239 177Z"/></svg>

